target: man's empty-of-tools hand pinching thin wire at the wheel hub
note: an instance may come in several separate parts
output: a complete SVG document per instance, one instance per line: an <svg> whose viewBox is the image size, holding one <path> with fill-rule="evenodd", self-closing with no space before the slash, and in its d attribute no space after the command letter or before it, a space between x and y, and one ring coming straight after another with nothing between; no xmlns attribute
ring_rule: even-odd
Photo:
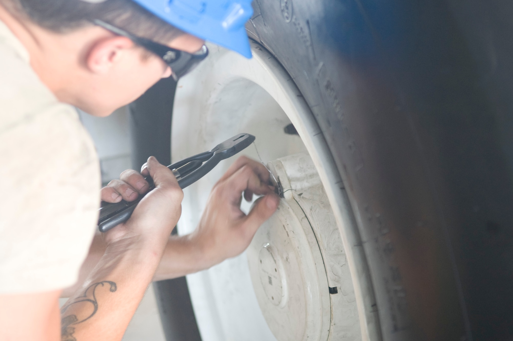
<svg viewBox="0 0 513 341"><path fill-rule="evenodd" d="M260 225L274 213L279 198L268 181L267 168L243 156L214 185L200 224L190 235L205 256L203 268L246 250ZM248 215L240 208L243 193L247 201L251 201L253 194L264 195Z"/></svg>

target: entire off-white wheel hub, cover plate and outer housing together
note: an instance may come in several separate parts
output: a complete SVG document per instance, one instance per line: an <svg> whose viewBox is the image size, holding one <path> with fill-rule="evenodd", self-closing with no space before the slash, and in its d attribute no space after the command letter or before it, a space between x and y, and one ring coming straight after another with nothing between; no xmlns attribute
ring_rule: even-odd
<svg viewBox="0 0 513 341"><path fill-rule="evenodd" d="M342 239L310 156L287 156L268 167L284 199L247 250L268 326L279 340L361 339ZM337 293L330 295L329 287Z"/></svg>

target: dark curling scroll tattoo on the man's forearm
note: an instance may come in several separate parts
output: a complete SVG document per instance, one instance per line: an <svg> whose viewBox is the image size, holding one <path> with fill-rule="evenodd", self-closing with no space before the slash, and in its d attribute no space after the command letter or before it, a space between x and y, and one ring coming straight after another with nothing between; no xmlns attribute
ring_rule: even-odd
<svg viewBox="0 0 513 341"><path fill-rule="evenodd" d="M90 303L92 305L93 311L90 313L87 317L78 319L78 317L74 314L66 315L62 317L61 320L61 341L76 341L76 338L73 336L75 333L75 327L72 327L74 325L78 325L80 323L83 323L84 321L87 321L91 317L93 317L94 314L98 311L98 302L96 301L95 291L98 286L104 287L105 285L110 285L109 291L114 292L117 290L116 283L104 280L101 282L94 283L89 288L86 289L83 296L75 298L72 302L69 304L64 305L61 308L61 316L63 316L66 313L66 310L68 310L69 307L72 305L76 305L81 302Z"/></svg>

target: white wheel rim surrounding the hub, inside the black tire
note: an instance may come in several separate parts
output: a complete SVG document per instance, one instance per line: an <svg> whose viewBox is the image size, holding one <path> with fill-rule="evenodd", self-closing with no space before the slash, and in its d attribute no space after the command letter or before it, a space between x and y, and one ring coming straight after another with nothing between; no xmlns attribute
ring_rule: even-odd
<svg viewBox="0 0 513 341"><path fill-rule="evenodd" d="M173 161L210 149L239 132L257 136L258 151L265 162L306 149L326 189L340 229L358 305L361 327L358 338L379 339L377 312L372 307L373 293L363 250L358 246L358 230L345 193L340 189L337 168L301 93L279 63L258 44L252 44L251 60L216 46L209 48L209 58L177 86L172 123ZM258 105L263 106L261 111L252 112ZM278 110L284 115L272 115ZM266 121L263 117L268 114ZM269 125L269 120L274 120L275 124ZM262 122L267 123L259 127ZM275 143L275 136L283 134L282 129L288 122L297 129L303 143L295 136L280 138L280 143ZM244 131L240 130L242 127ZM258 159L253 150L250 146L241 154ZM181 234L191 232L198 224L198 212L205 206L210 188L232 161L222 162L203 179L186 188L178 225ZM210 270L189 275L187 280L204 341L275 339L252 290L245 253ZM246 297L243 306L232 301L237 293ZM241 316L240 321L236 321ZM245 324L244 320L252 323Z"/></svg>

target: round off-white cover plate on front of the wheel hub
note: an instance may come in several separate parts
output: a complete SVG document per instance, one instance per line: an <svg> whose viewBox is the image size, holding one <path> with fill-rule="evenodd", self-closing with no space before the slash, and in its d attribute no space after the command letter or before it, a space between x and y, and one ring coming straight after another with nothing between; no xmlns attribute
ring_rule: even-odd
<svg viewBox="0 0 513 341"><path fill-rule="evenodd" d="M286 159L290 164L299 160L311 162L305 153ZM293 198L282 160L268 166L287 192L247 251L253 288L267 324L279 341L326 339L327 335L321 335L323 330L329 330L329 315L319 312L329 312L330 302L317 240L308 218ZM311 167L304 168L305 173L312 169L315 172L312 163L308 166ZM322 289L326 289L324 293Z"/></svg>

